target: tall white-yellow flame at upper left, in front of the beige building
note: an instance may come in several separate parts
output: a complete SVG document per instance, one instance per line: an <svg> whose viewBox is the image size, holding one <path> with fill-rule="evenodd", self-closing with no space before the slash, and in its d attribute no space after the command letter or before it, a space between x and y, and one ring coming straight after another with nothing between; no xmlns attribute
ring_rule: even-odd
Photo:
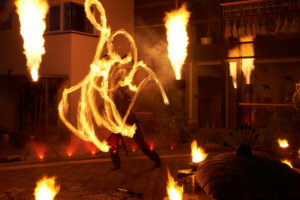
<svg viewBox="0 0 300 200"><path fill-rule="evenodd" d="M32 80L37 81L42 55L45 54L43 34L46 29L45 18L49 5L46 0L17 0L16 7L24 40L26 65Z"/></svg>

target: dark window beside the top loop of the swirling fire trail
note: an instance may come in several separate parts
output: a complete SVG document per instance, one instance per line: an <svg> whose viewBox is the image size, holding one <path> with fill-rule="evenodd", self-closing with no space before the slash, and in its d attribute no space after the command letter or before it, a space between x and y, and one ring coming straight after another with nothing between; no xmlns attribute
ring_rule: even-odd
<svg viewBox="0 0 300 200"><path fill-rule="evenodd" d="M93 33L93 26L86 18L83 5L74 2L64 3L64 30Z"/></svg>

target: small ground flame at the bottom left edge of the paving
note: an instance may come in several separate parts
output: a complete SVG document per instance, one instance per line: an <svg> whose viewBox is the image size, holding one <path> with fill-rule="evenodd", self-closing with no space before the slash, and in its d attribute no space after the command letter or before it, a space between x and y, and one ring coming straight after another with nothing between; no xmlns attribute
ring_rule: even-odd
<svg viewBox="0 0 300 200"><path fill-rule="evenodd" d="M36 184L34 190L35 200L53 200L55 195L59 192L60 187L55 185L55 178L48 178L44 176Z"/></svg>

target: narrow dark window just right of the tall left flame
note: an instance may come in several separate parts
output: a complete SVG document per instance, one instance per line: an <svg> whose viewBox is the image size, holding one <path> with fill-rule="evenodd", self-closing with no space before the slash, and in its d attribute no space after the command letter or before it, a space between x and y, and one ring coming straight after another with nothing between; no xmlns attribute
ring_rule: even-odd
<svg viewBox="0 0 300 200"><path fill-rule="evenodd" d="M60 5L51 6L47 16L47 31L60 30Z"/></svg>

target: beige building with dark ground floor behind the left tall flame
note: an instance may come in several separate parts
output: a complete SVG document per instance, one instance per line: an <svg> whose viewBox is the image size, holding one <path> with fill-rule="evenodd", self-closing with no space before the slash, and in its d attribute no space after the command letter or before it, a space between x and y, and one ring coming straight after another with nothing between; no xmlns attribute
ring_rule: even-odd
<svg viewBox="0 0 300 200"><path fill-rule="evenodd" d="M123 28L133 33L133 0L101 3L112 31ZM57 113L61 93L88 73L100 37L86 18L83 4L83 0L49 1L44 34L46 53L39 70L40 79L32 82L23 54L16 8L13 1L1 1L1 127L35 138L67 132ZM97 11L95 15L99 15ZM126 45L121 41L117 48L126 52L130 48ZM78 95L69 98L68 117L73 123L76 123Z"/></svg>

